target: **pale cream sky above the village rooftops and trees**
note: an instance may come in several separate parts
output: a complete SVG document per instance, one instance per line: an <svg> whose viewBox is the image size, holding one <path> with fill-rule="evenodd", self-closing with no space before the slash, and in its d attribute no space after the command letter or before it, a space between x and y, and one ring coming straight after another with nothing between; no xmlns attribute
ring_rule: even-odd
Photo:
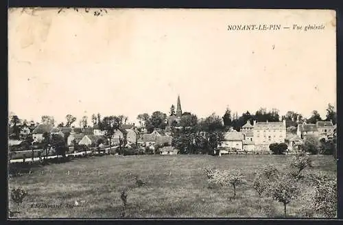
<svg viewBox="0 0 343 225"><path fill-rule="evenodd" d="M335 14L329 10L12 9L9 112L66 121L99 112L206 117L226 107L305 117L336 102ZM324 25L296 31L228 31L229 24Z"/></svg>

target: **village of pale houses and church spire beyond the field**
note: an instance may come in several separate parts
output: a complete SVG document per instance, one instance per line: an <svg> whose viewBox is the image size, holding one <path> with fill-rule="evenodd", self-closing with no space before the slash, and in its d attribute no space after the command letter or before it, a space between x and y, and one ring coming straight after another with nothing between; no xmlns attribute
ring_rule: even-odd
<svg viewBox="0 0 343 225"><path fill-rule="evenodd" d="M113 134L108 137L106 129L99 126L102 123L99 115L97 118L93 118L93 126L83 127L61 126L61 124L56 127L49 122L38 124L34 121L29 123L14 121L16 124L12 123L12 126L9 127L10 158L25 158L23 152L27 152L26 156L32 156L32 152L35 152L34 156L56 154L54 151L45 153L43 150L47 149L47 146L44 145L47 134L49 137L52 135L62 137L64 146L68 147L67 153L93 150L120 154L123 152L121 149L130 149L132 151L126 151L126 154L180 154L180 147L176 146L174 140L177 133L180 134L182 130L191 128L191 124L182 125L182 119L185 120L184 117L187 116L189 117L191 114L182 113L180 96L178 96L176 112L171 112L165 128L150 128L150 132L144 122L140 122L137 126L134 123L121 121L119 127L113 130ZM302 150L304 139L307 136L316 137L318 143L327 143L336 134L336 124L333 124L332 120L307 123L304 119L300 121L300 116L298 116L294 119L294 124L297 126L287 127L285 118L282 121L248 119L244 126L239 128L239 131L232 126L226 128L222 132L222 138L217 139L213 153L219 156L222 154L275 154L270 146L276 143L283 146L282 154L297 154ZM222 125L224 126L224 121ZM20 127L19 138L12 139L16 127ZM201 137L209 139L204 133L206 132L199 134ZM195 143L196 137L182 141ZM54 146L49 146L54 149ZM181 146L187 148L187 144ZM183 153L187 152L185 149L183 150Z"/></svg>

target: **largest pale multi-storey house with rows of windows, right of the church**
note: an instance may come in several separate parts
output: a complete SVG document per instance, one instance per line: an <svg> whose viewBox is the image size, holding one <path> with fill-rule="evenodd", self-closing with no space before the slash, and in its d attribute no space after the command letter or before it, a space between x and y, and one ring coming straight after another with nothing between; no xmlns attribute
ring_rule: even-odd
<svg viewBox="0 0 343 225"><path fill-rule="evenodd" d="M255 150L269 152L271 143L284 143L286 139L286 121L257 122L254 121L253 141Z"/></svg>

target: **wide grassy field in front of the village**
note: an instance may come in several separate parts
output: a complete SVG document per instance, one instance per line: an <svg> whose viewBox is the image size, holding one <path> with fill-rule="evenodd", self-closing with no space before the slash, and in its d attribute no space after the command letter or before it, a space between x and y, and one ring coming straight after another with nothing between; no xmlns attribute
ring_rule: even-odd
<svg viewBox="0 0 343 225"><path fill-rule="evenodd" d="M312 168L303 172L336 173L332 156L311 156ZM16 217L120 217L123 209L121 191L126 190L126 217L283 217L283 205L258 197L251 185L233 189L209 189L204 167L242 169L252 181L254 171L273 164L283 169L290 156L276 155L143 155L92 156L68 163L51 164L32 169L31 174L11 178L9 189L23 187L28 195ZM68 175L69 171L69 175ZM134 176L147 182L135 185ZM303 187L305 193L313 188ZM289 203L287 213L303 217L302 207L309 204L306 196ZM72 205L75 208L32 208L32 204ZM261 204L261 211L259 205ZM10 200L10 209L13 207ZM45 208L45 209L44 209Z"/></svg>

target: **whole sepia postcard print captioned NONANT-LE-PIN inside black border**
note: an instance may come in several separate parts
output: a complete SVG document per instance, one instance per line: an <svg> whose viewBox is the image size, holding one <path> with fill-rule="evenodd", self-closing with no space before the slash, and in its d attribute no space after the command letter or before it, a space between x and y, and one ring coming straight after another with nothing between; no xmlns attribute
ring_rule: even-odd
<svg viewBox="0 0 343 225"><path fill-rule="evenodd" d="M335 10L9 8L8 219L337 218Z"/></svg>

